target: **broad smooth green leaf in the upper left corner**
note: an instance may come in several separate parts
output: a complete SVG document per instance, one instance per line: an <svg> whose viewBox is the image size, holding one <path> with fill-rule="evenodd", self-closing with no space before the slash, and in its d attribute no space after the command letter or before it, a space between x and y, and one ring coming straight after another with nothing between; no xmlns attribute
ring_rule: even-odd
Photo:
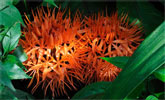
<svg viewBox="0 0 165 100"><path fill-rule="evenodd" d="M24 26L21 14L15 6L10 5L0 10L0 25L10 27L16 22Z"/></svg>

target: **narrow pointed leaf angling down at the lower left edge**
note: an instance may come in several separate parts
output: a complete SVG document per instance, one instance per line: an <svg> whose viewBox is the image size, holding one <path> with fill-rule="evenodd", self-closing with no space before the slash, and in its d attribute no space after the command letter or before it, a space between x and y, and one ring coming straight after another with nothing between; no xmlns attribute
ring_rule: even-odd
<svg viewBox="0 0 165 100"><path fill-rule="evenodd" d="M6 70L4 69L2 62L0 62L0 84L7 86L13 91L15 91L15 88L13 87L10 77L8 76Z"/></svg>

